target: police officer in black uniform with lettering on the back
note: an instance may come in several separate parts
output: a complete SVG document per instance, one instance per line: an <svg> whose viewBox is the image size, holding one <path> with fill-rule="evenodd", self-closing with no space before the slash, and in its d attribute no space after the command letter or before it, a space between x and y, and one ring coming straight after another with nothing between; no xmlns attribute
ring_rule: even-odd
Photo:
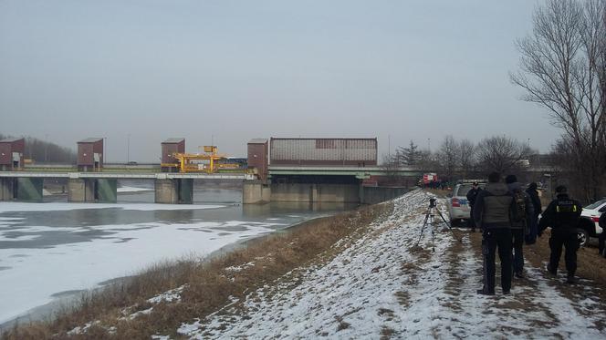
<svg viewBox="0 0 606 340"><path fill-rule="evenodd" d="M547 267L549 273L553 275L558 273L562 245L566 247L564 260L568 272L567 283L577 282L574 273L577 271L577 251L579 250L577 226L580 211L582 211L582 207L579 201L570 199L566 187L560 185L556 188L556 199L551 201L547 209L543 211L538 224L539 235L547 227L551 227L551 238L549 238L551 254Z"/></svg>

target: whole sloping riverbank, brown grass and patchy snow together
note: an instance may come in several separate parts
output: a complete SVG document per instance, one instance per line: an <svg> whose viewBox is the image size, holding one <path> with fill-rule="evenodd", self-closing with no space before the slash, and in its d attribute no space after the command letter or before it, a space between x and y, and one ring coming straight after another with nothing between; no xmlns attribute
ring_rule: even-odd
<svg viewBox="0 0 606 340"><path fill-rule="evenodd" d="M526 278L511 294L497 269L496 295L478 295L481 235L423 230L430 197L412 191L211 263L159 267L5 338L606 337L606 260L595 248L580 250L580 283L570 285L563 263L557 277L545 270L546 234L525 247Z"/></svg>

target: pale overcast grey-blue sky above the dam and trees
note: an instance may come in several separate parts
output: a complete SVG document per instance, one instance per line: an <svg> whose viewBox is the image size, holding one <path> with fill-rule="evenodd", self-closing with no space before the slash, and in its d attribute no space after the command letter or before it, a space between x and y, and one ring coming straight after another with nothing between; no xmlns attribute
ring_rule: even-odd
<svg viewBox="0 0 606 340"><path fill-rule="evenodd" d="M214 139L506 134L548 151L559 131L509 82L532 0L0 0L0 132L106 137L110 161L158 161ZM431 139L431 140L428 140Z"/></svg>

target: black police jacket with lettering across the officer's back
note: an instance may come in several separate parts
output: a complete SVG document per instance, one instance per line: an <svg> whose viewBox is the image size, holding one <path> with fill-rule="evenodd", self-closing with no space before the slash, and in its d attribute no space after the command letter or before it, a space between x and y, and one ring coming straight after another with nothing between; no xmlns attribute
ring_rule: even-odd
<svg viewBox="0 0 606 340"><path fill-rule="evenodd" d="M559 194L543 211L538 230L542 232L551 227L551 232L556 233L577 232L582 210L579 201L570 199L568 194Z"/></svg>

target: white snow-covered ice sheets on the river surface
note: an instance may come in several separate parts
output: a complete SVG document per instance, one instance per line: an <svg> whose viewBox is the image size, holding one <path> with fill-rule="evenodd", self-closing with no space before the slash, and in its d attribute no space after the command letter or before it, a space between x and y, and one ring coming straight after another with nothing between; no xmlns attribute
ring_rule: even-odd
<svg viewBox="0 0 606 340"><path fill-rule="evenodd" d="M130 275L151 263L179 259L188 254L209 254L227 244L273 232L282 225L277 222L189 221L65 227L26 225L26 219L19 216L25 216L29 211L103 208L156 211L220 207L0 203L0 325L17 315L26 314L34 307L51 302L53 294L95 288L103 281ZM23 212L7 214L8 211L28 212L24 215Z"/></svg>

